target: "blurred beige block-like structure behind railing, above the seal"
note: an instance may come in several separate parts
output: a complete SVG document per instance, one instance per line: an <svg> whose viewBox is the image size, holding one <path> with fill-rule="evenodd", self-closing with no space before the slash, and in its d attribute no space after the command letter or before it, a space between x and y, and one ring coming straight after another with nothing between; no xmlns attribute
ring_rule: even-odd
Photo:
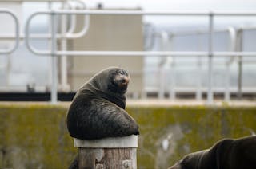
<svg viewBox="0 0 256 169"><path fill-rule="evenodd" d="M78 18L78 28L83 25ZM73 50L143 50L142 17L126 15L91 15L86 36L70 43ZM70 57L69 83L78 89L90 77L110 66L120 66L130 73L129 92L142 91L143 57Z"/></svg>

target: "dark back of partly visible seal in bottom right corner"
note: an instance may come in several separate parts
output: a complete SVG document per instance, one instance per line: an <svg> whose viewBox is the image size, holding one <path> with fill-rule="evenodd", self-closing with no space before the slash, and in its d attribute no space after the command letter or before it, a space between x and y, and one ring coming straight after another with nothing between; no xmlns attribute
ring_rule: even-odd
<svg viewBox="0 0 256 169"><path fill-rule="evenodd" d="M225 139L213 147L186 155L168 169L255 169L256 136Z"/></svg>

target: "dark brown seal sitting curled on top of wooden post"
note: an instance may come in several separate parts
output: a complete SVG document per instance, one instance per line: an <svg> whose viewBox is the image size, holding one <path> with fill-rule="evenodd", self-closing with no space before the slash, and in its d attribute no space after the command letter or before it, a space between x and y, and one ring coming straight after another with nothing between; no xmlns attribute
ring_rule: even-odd
<svg viewBox="0 0 256 169"><path fill-rule="evenodd" d="M125 111L130 77L124 69L104 69L78 89L66 116L70 136L81 140L138 135L138 124ZM78 157L70 168L78 167Z"/></svg>

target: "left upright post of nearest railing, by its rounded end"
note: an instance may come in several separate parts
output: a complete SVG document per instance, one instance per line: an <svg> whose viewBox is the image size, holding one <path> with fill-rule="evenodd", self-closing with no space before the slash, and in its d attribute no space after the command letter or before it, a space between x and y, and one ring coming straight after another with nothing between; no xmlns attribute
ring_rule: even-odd
<svg viewBox="0 0 256 169"><path fill-rule="evenodd" d="M51 93L50 100L52 104L57 103L58 95L58 60L56 56L56 14L51 13L51 61L52 61L52 83L51 83Z"/></svg>

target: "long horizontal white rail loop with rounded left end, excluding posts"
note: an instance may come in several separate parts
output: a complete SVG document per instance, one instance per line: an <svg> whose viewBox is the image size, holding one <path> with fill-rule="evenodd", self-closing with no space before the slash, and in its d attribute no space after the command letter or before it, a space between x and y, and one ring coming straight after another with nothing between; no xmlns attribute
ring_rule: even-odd
<svg viewBox="0 0 256 169"><path fill-rule="evenodd" d="M218 13L209 13L209 12L200 12L200 13L196 13L196 12L162 12L162 11L157 11L157 12L146 12L146 11L139 11L139 10L128 10L128 11L122 11L122 10L79 10L79 11L71 11L71 10L64 10L64 11L58 11L58 10L54 10L54 11L41 11L41 12L37 12L34 14L31 14L30 17L28 18L27 22L26 22L26 45L28 46L28 49L30 49L30 51L32 53L38 54L38 55L49 55L50 51L42 51L42 50L37 50L34 49L29 42L29 38L30 35L28 34L28 29L27 27L30 25L30 20L32 18L34 18L34 16L38 15L38 14L141 14L141 15L185 15L185 14L191 14L191 15L214 15L214 14L218 14ZM230 13L233 14L233 13ZM242 13L241 13L242 14ZM254 14L254 13L249 13L249 14ZM256 14L256 13L255 13ZM211 18L211 17L210 17ZM196 54L195 54L196 53ZM208 53L209 54L209 53ZM212 56L226 56L226 55L238 55L238 53L229 53L229 52L211 52ZM241 53L244 56L254 56L255 53L254 52L243 52ZM100 56L109 56L109 55L123 55L123 56L137 56L137 55L141 55L141 56L152 56L152 55L178 55L178 56L188 56L188 55L198 55L198 56L202 56L202 55L207 55L206 52L158 52L158 51L153 51L153 52L142 52L142 51L138 51L138 52L134 52L134 51L57 51L56 55L69 55L69 56L88 56L88 55L100 55Z"/></svg>

